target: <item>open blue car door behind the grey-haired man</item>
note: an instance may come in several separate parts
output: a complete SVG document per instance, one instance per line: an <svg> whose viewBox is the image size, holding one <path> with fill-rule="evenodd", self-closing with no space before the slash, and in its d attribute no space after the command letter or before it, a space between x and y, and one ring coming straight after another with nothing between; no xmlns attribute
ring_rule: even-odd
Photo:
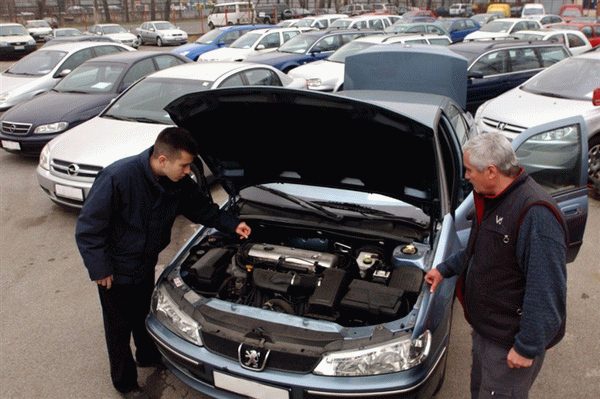
<svg viewBox="0 0 600 399"><path fill-rule="evenodd" d="M583 117L527 129L512 146L520 165L558 202L568 228L567 262L572 262L581 247L588 215L588 149Z"/></svg>

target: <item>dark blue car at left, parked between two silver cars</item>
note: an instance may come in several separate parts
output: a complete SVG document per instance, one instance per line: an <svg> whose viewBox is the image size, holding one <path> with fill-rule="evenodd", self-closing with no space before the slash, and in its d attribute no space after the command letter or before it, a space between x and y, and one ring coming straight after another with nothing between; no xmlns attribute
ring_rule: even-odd
<svg viewBox="0 0 600 399"><path fill-rule="evenodd" d="M0 116L0 140L9 152L39 156L54 137L98 115L127 87L152 72L192 62L179 55L128 51L92 58L52 90Z"/></svg>

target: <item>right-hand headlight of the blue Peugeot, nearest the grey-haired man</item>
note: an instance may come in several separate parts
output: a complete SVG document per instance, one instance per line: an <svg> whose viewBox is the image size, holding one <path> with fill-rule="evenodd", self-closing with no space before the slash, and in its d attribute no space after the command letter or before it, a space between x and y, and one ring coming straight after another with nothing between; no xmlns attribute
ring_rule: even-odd
<svg viewBox="0 0 600 399"><path fill-rule="evenodd" d="M421 364L430 347L431 333L427 330L417 339L405 337L384 345L327 354L314 373L348 377L396 373Z"/></svg>

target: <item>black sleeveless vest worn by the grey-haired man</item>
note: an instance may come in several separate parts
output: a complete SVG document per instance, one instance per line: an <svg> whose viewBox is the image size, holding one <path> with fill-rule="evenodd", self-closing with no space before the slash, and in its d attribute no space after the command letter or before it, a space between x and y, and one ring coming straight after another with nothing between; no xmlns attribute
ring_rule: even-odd
<svg viewBox="0 0 600 399"><path fill-rule="evenodd" d="M521 221L531 206L542 204L554 212L565 234L566 228L554 199L524 172L483 203L483 217L473 223L467 244L466 316L480 335L510 348L519 332L525 296L525 271L516 253Z"/></svg>

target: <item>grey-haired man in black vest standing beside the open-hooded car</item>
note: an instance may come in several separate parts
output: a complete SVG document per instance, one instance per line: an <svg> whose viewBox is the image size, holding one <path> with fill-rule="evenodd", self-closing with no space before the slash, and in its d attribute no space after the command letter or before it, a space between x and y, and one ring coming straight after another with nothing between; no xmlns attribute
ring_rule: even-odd
<svg viewBox="0 0 600 399"><path fill-rule="evenodd" d="M546 349L564 335L566 227L503 135L474 137L463 161L476 220L466 249L425 278L433 292L461 275L458 295L473 327L472 399L524 399Z"/></svg>

